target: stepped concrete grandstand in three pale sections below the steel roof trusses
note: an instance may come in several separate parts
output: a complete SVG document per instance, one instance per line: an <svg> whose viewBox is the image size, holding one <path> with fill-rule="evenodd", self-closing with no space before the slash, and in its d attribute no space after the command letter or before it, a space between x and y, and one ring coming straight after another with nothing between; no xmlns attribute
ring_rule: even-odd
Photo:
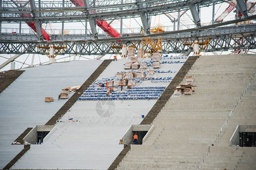
<svg viewBox="0 0 256 170"><path fill-rule="evenodd" d="M111 62L97 80L114 76L117 70L124 71L125 61ZM65 105L64 100L45 103L45 95L57 96L63 87L82 84L100 63L72 61L26 69L1 93L2 168L22 150L22 145L11 145L15 138L28 127L46 124ZM77 100L54 124L43 144L31 145L11 168L108 169L124 147L119 145L119 139L130 125L141 123L154 128L142 145L131 145L117 169L255 169L255 147L240 147L239 139L233 142L238 145L230 143L237 125L246 126L245 132L255 133L255 63L255 55L249 54L199 57L179 82L185 83L186 76L194 76L195 92L180 97L170 97L169 93L152 124L146 122L146 115L156 107L154 99ZM173 73L156 74L180 75L182 65L163 64L160 70L171 68ZM136 86L167 87L169 83L144 80ZM120 87L115 90L120 91ZM99 102L101 109L109 109L110 116L100 116Z"/></svg>

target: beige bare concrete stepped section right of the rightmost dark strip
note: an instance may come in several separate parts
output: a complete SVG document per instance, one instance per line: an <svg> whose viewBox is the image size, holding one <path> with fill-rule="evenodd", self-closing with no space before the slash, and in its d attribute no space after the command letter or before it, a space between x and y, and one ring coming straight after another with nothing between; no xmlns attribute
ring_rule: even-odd
<svg viewBox="0 0 256 170"><path fill-rule="evenodd" d="M228 146L235 124L244 122L240 118L253 117L250 111L255 108L251 106L255 99L250 102L250 97L242 96L256 71L253 63L254 55L204 56L196 60L186 74L195 77L194 94L170 97L160 114L154 112L154 130L148 139L142 146L132 146L116 169L239 169L240 163L253 167L255 163L246 158L254 158L254 151L247 154L245 148ZM183 77L181 82L185 80ZM246 113L234 118L240 103L247 103L245 100L249 109L243 107Z"/></svg>

